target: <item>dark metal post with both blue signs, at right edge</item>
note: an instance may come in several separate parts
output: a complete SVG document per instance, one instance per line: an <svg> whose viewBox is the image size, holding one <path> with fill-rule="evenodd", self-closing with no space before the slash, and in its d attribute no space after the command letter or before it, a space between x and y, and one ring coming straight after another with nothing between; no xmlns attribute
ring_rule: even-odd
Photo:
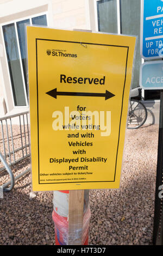
<svg viewBox="0 0 163 256"><path fill-rule="evenodd" d="M163 42L163 1L141 1L141 57L162 58ZM163 62L150 62L140 67L140 86L143 89L160 90L160 120L158 141L158 163L156 170L155 207L153 224L153 244L163 245Z"/></svg>

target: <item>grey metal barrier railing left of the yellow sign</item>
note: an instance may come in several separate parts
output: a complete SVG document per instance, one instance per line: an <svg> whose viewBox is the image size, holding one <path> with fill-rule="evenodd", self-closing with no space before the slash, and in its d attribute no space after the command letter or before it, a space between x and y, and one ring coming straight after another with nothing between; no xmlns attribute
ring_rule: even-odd
<svg viewBox="0 0 163 256"><path fill-rule="evenodd" d="M10 175L10 181L0 186L1 193L2 191L11 191L15 180L30 170L28 168L14 176L10 168L30 156L28 114L27 111L0 118L0 173L7 170ZM10 187L7 188L9 185Z"/></svg>

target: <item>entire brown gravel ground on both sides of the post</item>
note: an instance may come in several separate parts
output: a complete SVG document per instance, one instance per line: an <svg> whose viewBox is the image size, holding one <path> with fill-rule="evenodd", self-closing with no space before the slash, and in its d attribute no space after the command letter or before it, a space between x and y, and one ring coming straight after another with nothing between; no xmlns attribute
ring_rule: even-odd
<svg viewBox="0 0 163 256"><path fill-rule="evenodd" d="M127 130L120 189L90 190L89 245L152 245L157 147L158 125ZM29 166L27 157L11 169ZM0 173L0 185L7 180ZM53 192L31 197L29 173L16 181L0 199L0 245L55 245L52 199Z"/></svg>

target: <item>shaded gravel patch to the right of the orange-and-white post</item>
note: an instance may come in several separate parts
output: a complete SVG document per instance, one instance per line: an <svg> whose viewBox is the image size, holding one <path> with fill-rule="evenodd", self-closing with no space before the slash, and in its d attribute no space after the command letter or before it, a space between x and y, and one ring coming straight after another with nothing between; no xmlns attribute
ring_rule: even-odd
<svg viewBox="0 0 163 256"><path fill-rule="evenodd" d="M152 245L154 188L149 191L148 182L137 177L120 190L90 192L91 245Z"/></svg>

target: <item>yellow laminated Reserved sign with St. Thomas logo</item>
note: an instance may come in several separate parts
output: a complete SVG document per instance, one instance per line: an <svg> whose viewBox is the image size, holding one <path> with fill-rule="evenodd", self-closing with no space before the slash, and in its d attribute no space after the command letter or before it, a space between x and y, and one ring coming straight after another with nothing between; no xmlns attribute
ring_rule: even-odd
<svg viewBox="0 0 163 256"><path fill-rule="evenodd" d="M120 186L135 41L27 27L34 191Z"/></svg>

